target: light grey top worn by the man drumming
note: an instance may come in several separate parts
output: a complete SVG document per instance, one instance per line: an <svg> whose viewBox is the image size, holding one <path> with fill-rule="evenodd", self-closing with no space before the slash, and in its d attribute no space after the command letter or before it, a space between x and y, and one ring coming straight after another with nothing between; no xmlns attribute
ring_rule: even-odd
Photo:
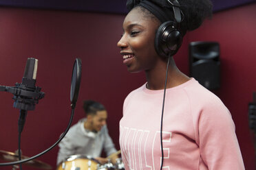
<svg viewBox="0 0 256 170"><path fill-rule="evenodd" d="M84 121L81 119L70 127L63 140L58 144L57 165L69 156L82 154L92 158L99 157L103 148L107 156L116 152L114 143L109 136L107 126L104 125L98 133L85 130Z"/></svg>

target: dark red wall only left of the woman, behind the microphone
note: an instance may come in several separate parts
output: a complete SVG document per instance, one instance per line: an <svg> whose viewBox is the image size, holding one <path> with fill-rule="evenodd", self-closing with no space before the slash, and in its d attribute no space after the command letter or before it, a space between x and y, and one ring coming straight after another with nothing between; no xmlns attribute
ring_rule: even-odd
<svg viewBox="0 0 256 170"><path fill-rule="evenodd" d="M73 124L84 117L84 99L100 101L109 112L109 134L119 149L122 102L130 90L144 82L142 74L127 73L116 46L124 17L0 8L0 84L21 82L27 59L34 57L39 60L36 85L45 92L36 109L28 112L21 138L25 156L50 147L67 127L75 58L81 58L83 66ZM0 149L13 152L18 148L19 110L12 108L10 93L1 92L0 101ZM39 160L55 169L57 151L55 147Z"/></svg>

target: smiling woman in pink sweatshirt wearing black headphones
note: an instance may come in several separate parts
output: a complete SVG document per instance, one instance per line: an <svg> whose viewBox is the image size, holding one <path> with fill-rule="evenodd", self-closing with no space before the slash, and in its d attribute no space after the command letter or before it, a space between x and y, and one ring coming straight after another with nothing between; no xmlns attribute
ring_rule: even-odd
<svg viewBox="0 0 256 170"><path fill-rule="evenodd" d="M173 60L186 32L211 16L211 1L129 0L127 8L118 47L127 70L145 71L147 82L124 102L125 169L244 169L230 112Z"/></svg>

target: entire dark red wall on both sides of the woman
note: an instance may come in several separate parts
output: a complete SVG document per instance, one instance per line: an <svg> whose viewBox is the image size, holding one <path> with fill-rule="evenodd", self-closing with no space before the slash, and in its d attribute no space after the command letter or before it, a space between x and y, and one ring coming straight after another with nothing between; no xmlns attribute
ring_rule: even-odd
<svg viewBox="0 0 256 170"><path fill-rule="evenodd" d="M249 170L255 169L253 133L247 117L248 102L256 90L255 10L253 3L214 14L211 21L185 36L175 56L180 70L189 74L189 42L220 42L222 87L215 93L231 110ZM73 124L84 117L83 99L102 102L109 112L109 134L119 149L122 102L132 89L145 82L144 73L127 73L116 47L124 18L114 14L0 8L0 84L14 86L21 82L27 58L34 57L39 60L36 85L45 92L36 109L28 112L21 138L25 156L47 149L65 130L70 119L70 81L75 58L81 58L83 66ZM10 93L1 92L0 101L0 149L15 151L19 110L12 108ZM57 151L58 147L54 147L38 160L55 169Z"/></svg>

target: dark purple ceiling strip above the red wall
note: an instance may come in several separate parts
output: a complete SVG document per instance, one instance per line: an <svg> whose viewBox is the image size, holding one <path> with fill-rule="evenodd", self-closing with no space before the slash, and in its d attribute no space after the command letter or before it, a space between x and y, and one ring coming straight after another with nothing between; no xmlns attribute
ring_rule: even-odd
<svg viewBox="0 0 256 170"><path fill-rule="evenodd" d="M85 12L107 12L126 14L125 3L127 0L0 0L1 6L36 8L48 10L74 10ZM213 12L226 10L256 0L211 0Z"/></svg>

